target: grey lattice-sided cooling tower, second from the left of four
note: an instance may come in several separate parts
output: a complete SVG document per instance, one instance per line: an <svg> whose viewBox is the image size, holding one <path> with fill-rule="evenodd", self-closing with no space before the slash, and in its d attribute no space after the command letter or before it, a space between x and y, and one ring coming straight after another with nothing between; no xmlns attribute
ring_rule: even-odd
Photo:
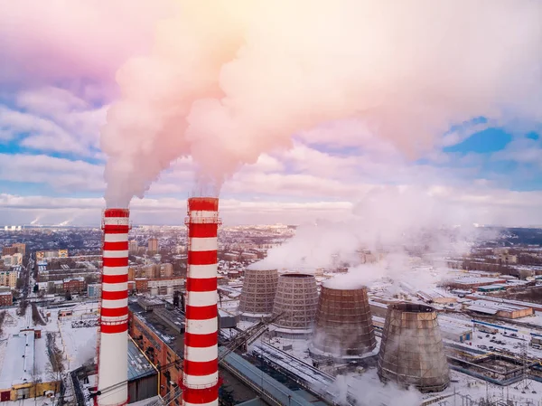
<svg viewBox="0 0 542 406"><path fill-rule="evenodd" d="M278 277L273 316L275 334L311 335L318 307L318 289L313 275L290 273Z"/></svg>

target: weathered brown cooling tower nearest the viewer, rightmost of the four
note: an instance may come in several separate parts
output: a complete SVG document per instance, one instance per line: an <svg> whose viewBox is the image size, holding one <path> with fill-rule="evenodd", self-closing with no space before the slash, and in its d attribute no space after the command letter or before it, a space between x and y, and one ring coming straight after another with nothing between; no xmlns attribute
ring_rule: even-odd
<svg viewBox="0 0 542 406"><path fill-rule="evenodd" d="M443 391L450 374L433 307L400 303L388 306L378 353L382 382L416 386L420 392Z"/></svg>

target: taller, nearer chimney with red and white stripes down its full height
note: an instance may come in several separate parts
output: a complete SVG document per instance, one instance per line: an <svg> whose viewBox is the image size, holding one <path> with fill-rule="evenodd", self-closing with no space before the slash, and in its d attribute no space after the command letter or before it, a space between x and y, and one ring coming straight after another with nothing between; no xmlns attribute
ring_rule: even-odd
<svg viewBox="0 0 542 406"><path fill-rule="evenodd" d="M188 269L182 404L218 406L217 231L219 199L188 199Z"/></svg>

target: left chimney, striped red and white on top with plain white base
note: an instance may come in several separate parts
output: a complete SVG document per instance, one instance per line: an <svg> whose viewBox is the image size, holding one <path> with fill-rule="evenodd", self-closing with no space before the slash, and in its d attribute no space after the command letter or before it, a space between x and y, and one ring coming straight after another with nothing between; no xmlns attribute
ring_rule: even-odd
<svg viewBox="0 0 542 406"><path fill-rule="evenodd" d="M98 343L98 406L128 402L128 231L130 211L104 212L104 255Z"/></svg>

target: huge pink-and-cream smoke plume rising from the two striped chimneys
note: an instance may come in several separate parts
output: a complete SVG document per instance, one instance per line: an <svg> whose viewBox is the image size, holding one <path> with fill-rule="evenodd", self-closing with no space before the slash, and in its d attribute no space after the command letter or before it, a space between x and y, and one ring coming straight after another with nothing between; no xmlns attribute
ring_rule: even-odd
<svg viewBox="0 0 542 406"><path fill-rule="evenodd" d="M296 132L364 121L407 156L475 117L539 119L540 3L183 0L117 72L107 204L192 156L213 186ZM340 134L337 135L341 137Z"/></svg>

